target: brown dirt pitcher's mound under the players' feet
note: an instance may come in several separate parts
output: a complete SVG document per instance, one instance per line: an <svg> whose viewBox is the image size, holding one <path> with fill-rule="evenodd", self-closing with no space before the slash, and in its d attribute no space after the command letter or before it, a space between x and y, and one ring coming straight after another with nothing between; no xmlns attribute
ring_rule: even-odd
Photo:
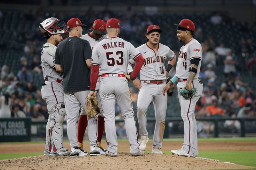
<svg viewBox="0 0 256 170"><path fill-rule="evenodd" d="M132 157L119 152L117 157L83 156L70 158L32 156L0 160L0 169L250 169L253 167L233 165L213 160L181 157L168 154L149 154Z"/></svg>

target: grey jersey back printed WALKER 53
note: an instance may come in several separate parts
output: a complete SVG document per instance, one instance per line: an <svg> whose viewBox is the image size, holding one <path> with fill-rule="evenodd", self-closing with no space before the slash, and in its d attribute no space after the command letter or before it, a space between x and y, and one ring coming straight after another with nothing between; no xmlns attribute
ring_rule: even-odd
<svg viewBox="0 0 256 170"><path fill-rule="evenodd" d="M130 43L122 38L105 38L96 44L92 51L92 65L98 65L99 75L127 74L129 61L134 61L140 52Z"/></svg>

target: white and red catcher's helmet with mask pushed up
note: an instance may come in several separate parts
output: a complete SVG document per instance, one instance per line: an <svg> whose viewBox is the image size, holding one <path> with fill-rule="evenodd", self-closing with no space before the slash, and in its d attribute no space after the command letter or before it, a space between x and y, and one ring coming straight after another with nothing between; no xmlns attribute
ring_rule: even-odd
<svg viewBox="0 0 256 170"><path fill-rule="evenodd" d="M57 18L48 18L45 19L42 23L39 24L39 29L48 37L52 34L67 33L67 26L64 22L58 23L60 19ZM44 37L43 37L44 38Z"/></svg>

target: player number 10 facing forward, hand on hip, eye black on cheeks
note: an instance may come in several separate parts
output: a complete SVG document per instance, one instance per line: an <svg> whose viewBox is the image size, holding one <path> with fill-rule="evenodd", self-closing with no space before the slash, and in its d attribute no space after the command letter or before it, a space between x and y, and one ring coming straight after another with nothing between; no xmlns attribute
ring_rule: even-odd
<svg viewBox="0 0 256 170"><path fill-rule="evenodd" d="M148 142L147 109L153 100L156 126L153 136L152 153L162 154L160 150L163 144L165 115L167 108L167 96L163 96L162 89L166 85L168 72L175 64L176 55L167 46L159 43L162 30L157 25L148 26L147 43L137 49L144 57L144 64L140 70L140 81L136 79L133 84L140 89L137 103L137 117L140 128L140 149L145 150ZM164 62L168 59L165 69ZM164 71L165 70L165 71Z"/></svg>

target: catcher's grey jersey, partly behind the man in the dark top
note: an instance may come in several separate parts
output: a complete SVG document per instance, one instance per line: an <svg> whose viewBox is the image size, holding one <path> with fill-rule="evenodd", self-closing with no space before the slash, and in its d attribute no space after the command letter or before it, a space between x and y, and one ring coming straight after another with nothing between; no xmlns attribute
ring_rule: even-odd
<svg viewBox="0 0 256 170"><path fill-rule="evenodd" d="M63 79L63 73L57 72L54 70L54 56L56 51L56 46L46 42L43 45L41 52L41 66L43 67L44 79L54 78L54 79Z"/></svg>

